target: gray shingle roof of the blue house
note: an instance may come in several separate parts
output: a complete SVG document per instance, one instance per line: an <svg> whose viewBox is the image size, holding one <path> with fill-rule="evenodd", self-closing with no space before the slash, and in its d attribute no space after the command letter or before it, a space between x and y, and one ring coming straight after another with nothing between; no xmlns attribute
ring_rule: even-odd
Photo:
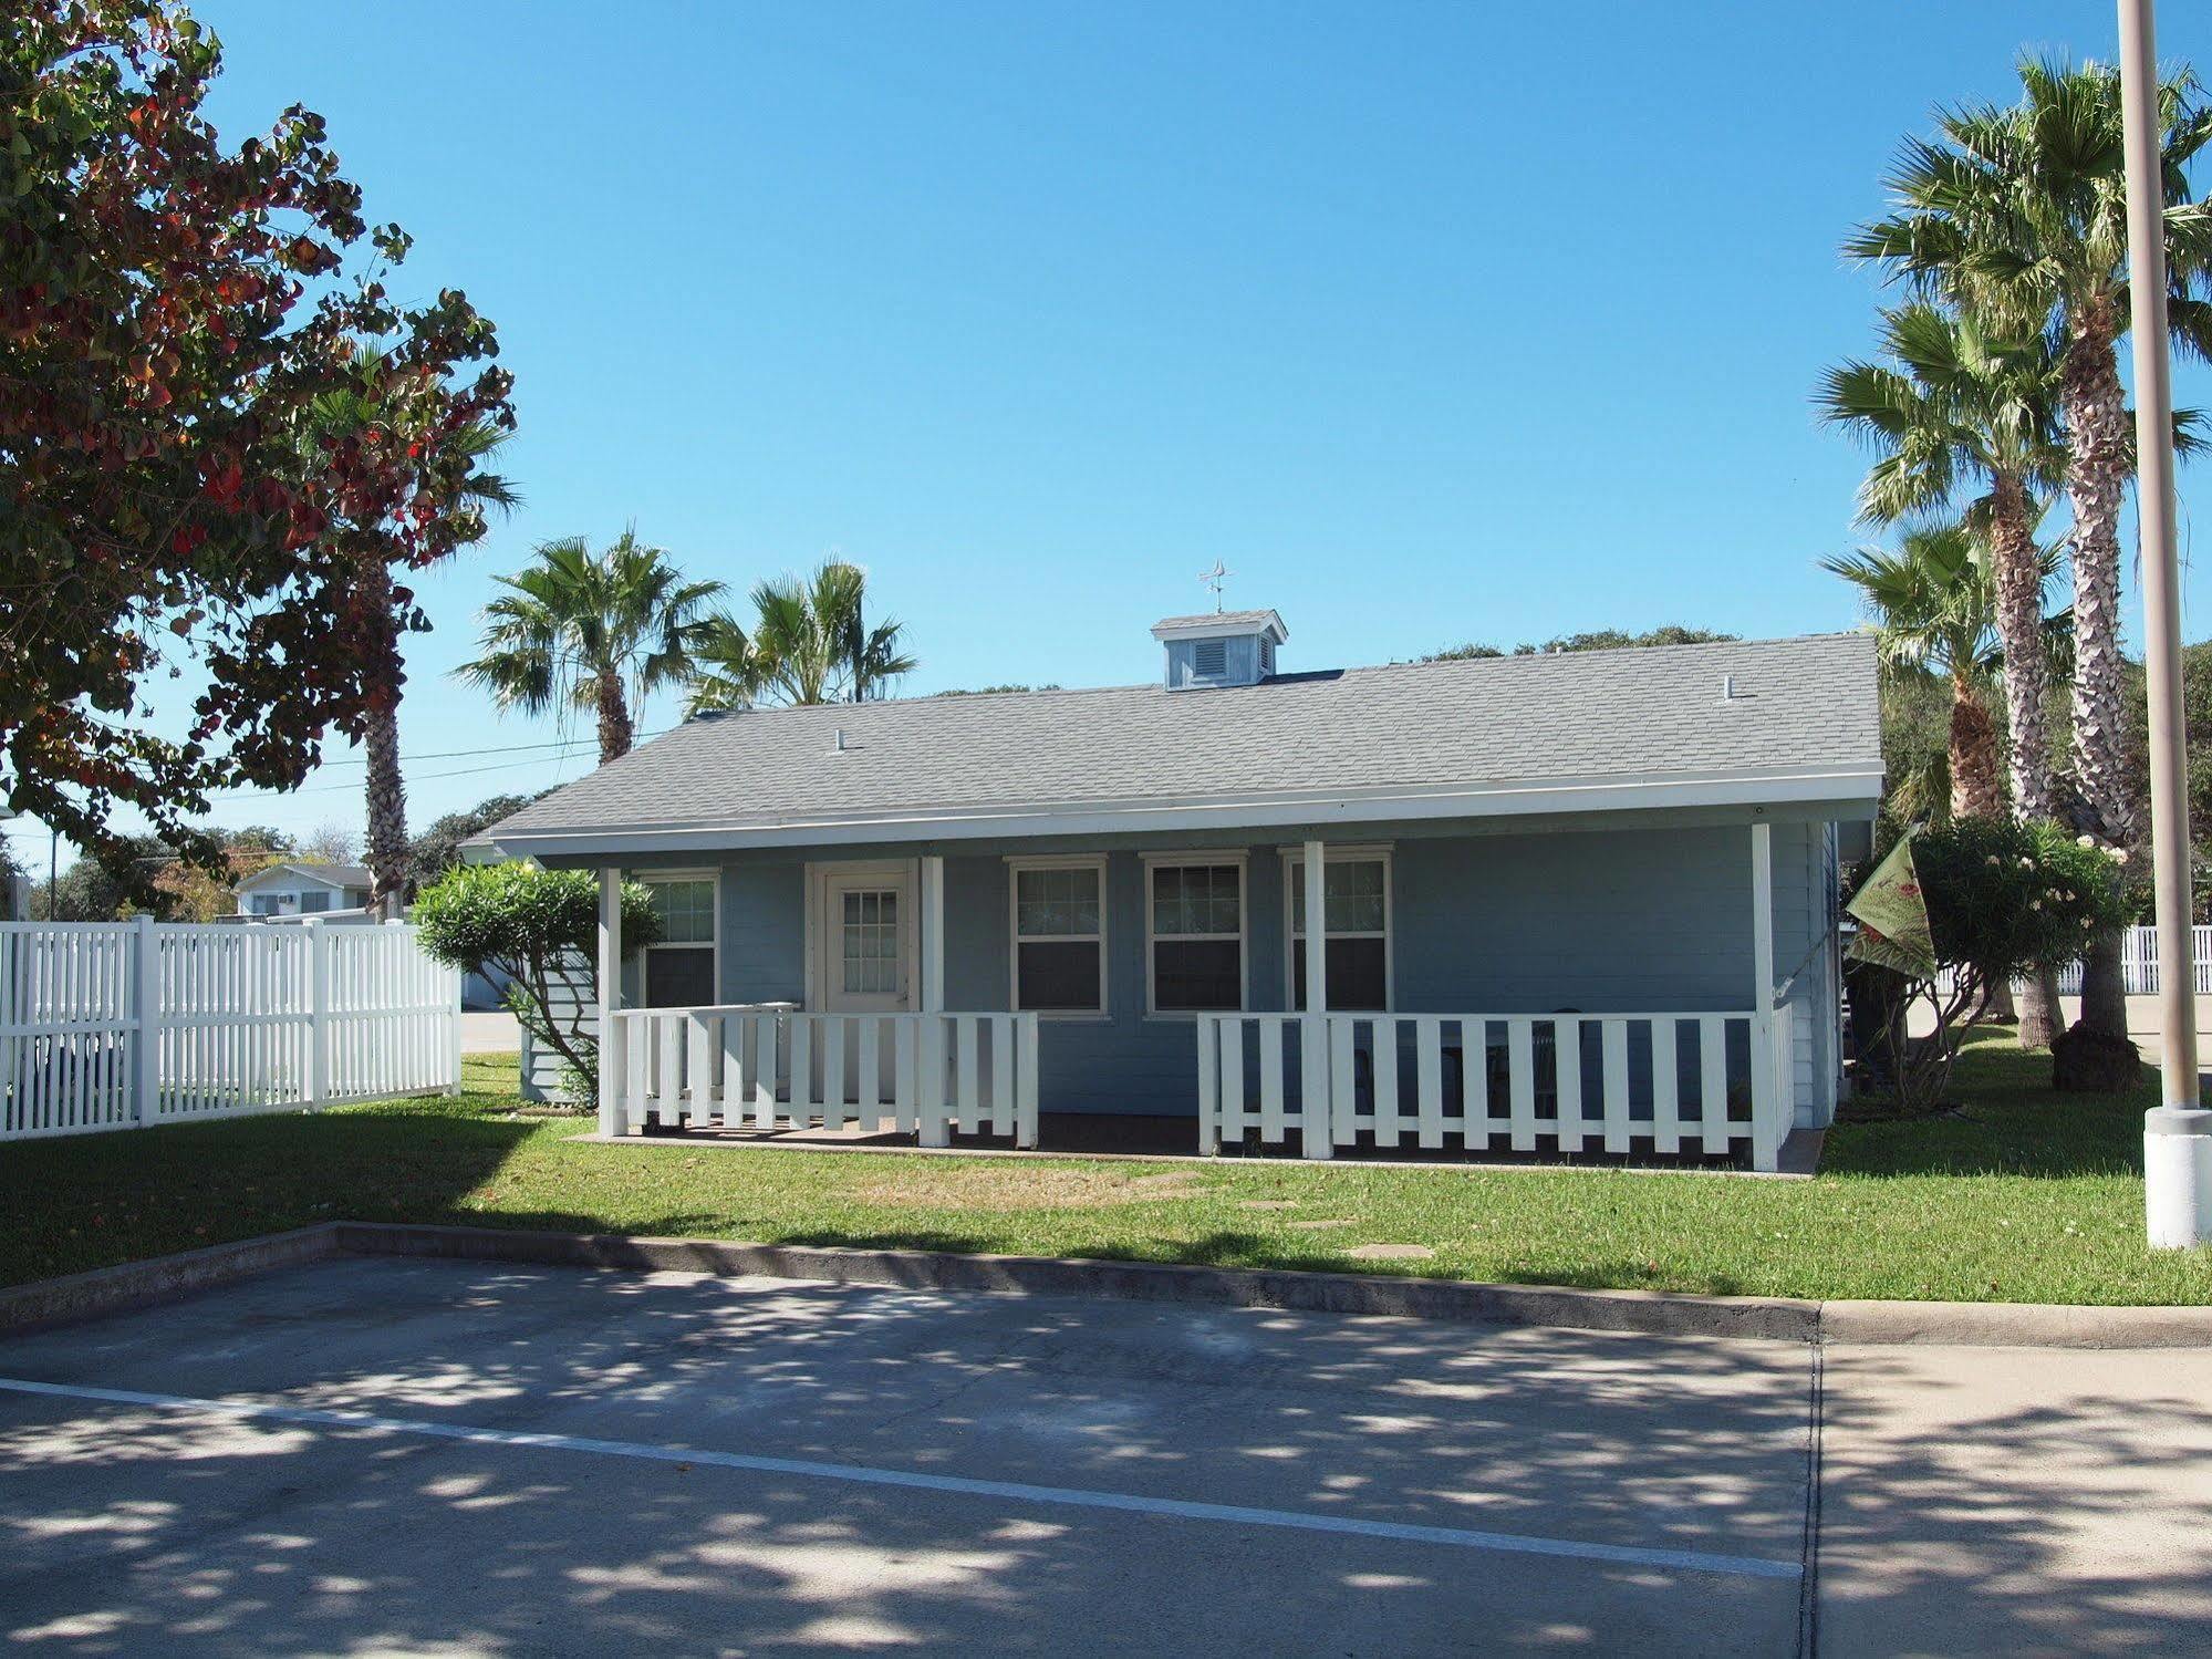
<svg viewBox="0 0 2212 1659"><path fill-rule="evenodd" d="M478 841L1807 770L1880 772L1867 635L712 714Z"/></svg>

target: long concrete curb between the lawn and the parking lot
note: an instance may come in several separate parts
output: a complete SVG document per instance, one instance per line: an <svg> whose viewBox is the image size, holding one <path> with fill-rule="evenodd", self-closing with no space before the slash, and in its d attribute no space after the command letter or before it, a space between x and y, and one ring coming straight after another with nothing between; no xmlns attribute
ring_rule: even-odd
<svg viewBox="0 0 2212 1659"><path fill-rule="evenodd" d="M1018 1296L1113 1296L1307 1314L1436 1318L1460 1325L1721 1336L1776 1343L1953 1347L2212 1347L2212 1307L2055 1307L2046 1303L1871 1303L1787 1296L1686 1296L1657 1290L1482 1285L1464 1279L1190 1267L1155 1261L962 1256L726 1239L637 1239L522 1228L325 1221L177 1256L0 1290L0 1334L144 1307L274 1267L334 1256L434 1256L628 1272L761 1274L836 1285Z"/></svg>

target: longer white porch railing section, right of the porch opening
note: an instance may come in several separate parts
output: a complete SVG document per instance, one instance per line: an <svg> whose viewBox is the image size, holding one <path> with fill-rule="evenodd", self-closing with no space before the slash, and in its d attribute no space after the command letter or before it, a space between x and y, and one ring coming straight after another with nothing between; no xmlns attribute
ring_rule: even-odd
<svg viewBox="0 0 2212 1659"><path fill-rule="evenodd" d="M1296 1130L1376 1148L1606 1150L1772 1170L1790 1133L1790 1009L1739 1013L1199 1015L1199 1150Z"/></svg>

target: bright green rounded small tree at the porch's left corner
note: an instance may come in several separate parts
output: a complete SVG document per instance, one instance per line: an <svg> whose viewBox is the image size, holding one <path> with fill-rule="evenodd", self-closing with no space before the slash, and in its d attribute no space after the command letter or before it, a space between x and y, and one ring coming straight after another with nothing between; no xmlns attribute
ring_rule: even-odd
<svg viewBox="0 0 2212 1659"><path fill-rule="evenodd" d="M588 869L460 865L416 896L422 949L465 973L504 973L507 1006L564 1071L595 1082L599 1042L584 1011L599 1002L599 878ZM653 896L622 889L622 945L661 936ZM566 1004L566 1011L562 1011Z"/></svg>

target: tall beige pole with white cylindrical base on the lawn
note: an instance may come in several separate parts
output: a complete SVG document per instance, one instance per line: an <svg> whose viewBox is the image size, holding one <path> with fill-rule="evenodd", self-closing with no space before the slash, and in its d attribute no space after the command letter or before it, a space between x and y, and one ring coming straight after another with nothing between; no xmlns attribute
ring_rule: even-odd
<svg viewBox="0 0 2212 1659"><path fill-rule="evenodd" d="M2212 1113L2199 1106L2197 969L2190 960L2188 730L2181 714L2181 575L2174 553L2174 387L2166 343L2166 170L2152 0L2119 0L2119 97L2128 139L2128 283L2135 305L2135 529L2143 562L2150 690L2150 852L2159 900L2159 1106L2143 1113L2143 1212L2152 1250L2212 1239Z"/></svg>

